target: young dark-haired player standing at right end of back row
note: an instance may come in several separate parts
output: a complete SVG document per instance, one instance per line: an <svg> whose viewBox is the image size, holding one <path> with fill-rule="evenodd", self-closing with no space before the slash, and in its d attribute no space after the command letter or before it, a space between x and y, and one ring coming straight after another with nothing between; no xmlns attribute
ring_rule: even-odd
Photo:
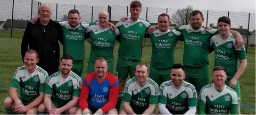
<svg viewBox="0 0 256 115"><path fill-rule="evenodd" d="M230 33L231 21L229 17L220 17L217 26L220 33L213 36L210 41L211 50L214 49L215 52L214 67L222 66L227 68L225 84L238 94L238 114L241 114L241 91L238 78L240 78L247 66L245 47L244 45L242 47L234 46L236 37ZM241 63L239 67L238 59Z"/></svg>

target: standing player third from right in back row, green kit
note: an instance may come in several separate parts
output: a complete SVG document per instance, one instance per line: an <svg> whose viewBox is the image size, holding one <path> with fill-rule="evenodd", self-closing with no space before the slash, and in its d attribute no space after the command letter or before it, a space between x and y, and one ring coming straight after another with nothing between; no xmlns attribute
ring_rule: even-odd
<svg viewBox="0 0 256 115"><path fill-rule="evenodd" d="M174 52L176 41L181 38L181 33L176 30L169 30L170 16L160 14L158 16L159 29L151 34L145 34L145 38L151 39L152 55L150 66L150 77L158 83L169 81L170 71L174 65Z"/></svg>

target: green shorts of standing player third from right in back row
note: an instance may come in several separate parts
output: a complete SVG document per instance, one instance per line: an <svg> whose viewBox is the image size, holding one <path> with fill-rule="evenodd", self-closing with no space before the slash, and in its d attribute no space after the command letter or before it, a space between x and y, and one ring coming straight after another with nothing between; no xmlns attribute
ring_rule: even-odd
<svg viewBox="0 0 256 115"><path fill-rule="evenodd" d="M171 68L162 69L150 65L150 75L148 77L150 77L151 79L153 79L153 81L158 83L158 86L160 87L160 85L163 82L169 81L171 79L170 72Z"/></svg>

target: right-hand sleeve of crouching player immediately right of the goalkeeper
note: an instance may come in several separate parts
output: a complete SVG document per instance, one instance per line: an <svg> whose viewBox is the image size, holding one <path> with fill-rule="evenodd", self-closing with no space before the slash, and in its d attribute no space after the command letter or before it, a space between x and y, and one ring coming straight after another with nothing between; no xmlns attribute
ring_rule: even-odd
<svg viewBox="0 0 256 115"><path fill-rule="evenodd" d="M150 95L149 104L158 104L159 86L154 81L149 81L149 83L151 85L150 86L151 95Z"/></svg>

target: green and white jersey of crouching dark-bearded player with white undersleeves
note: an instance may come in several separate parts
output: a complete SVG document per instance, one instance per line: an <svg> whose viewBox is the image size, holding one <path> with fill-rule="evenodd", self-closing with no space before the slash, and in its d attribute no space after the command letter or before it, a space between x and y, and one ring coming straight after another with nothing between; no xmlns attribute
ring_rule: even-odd
<svg viewBox="0 0 256 115"><path fill-rule="evenodd" d="M197 95L194 85L183 81L176 89L172 81L163 82L160 86L159 103L166 104L171 114L184 114L189 108L197 107Z"/></svg>

